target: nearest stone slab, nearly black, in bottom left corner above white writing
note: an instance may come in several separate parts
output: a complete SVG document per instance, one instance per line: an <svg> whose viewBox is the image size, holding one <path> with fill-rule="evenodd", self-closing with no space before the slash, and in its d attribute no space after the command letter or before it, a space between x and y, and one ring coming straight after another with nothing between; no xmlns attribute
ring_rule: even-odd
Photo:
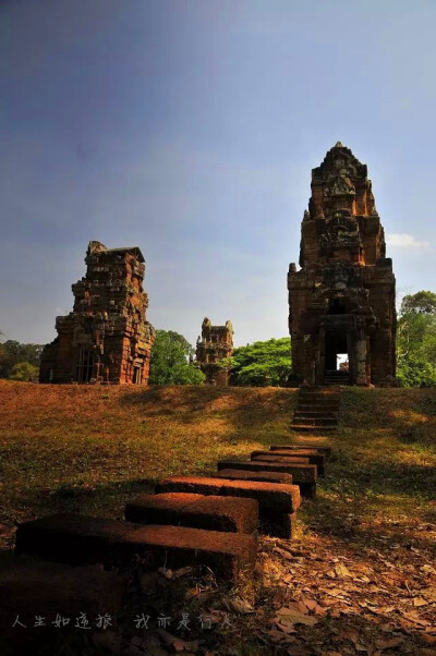
<svg viewBox="0 0 436 656"><path fill-rule="evenodd" d="M5 603L0 604L0 653L57 653L50 644L52 634L59 631L52 625L58 614L71 618L70 624L60 629L62 634L76 631L75 618L84 611L89 621L109 615L113 630L123 610L124 594L125 581L114 572L105 572L95 566L71 567L3 552L0 556L0 597ZM46 627L35 627L36 614L45 618ZM17 617L25 629L13 627ZM36 644L39 640L40 651L39 643ZM14 651L10 651L12 645Z"/></svg>

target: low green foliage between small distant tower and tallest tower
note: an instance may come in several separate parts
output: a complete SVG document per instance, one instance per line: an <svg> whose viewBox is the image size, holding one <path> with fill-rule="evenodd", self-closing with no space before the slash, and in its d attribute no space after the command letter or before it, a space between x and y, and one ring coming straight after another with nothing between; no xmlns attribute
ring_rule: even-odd
<svg viewBox="0 0 436 656"><path fill-rule="evenodd" d="M291 373L291 340L282 337L240 347L221 366L230 370L233 385L286 386Z"/></svg>

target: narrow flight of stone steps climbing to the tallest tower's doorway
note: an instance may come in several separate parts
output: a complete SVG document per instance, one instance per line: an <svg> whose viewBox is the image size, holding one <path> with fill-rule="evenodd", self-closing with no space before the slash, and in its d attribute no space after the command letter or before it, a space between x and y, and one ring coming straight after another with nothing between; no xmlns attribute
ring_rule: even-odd
<svg viewBox="0 0 436 656"><path fill-rule="evenodd" d="M291 428L323 434L338 425L340 388L300 387Z"/></svg>

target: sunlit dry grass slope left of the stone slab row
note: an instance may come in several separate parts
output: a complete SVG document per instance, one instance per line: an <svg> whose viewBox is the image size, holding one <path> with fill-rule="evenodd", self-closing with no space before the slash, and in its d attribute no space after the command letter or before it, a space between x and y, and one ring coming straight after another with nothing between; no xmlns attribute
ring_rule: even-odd
<svg viewBox="0 0 436 656"><path fill-rule="evenodd" d="M284 439L295 391L0 382L2 546L14 523L58 510L122 518L164 476Z"/></svg>

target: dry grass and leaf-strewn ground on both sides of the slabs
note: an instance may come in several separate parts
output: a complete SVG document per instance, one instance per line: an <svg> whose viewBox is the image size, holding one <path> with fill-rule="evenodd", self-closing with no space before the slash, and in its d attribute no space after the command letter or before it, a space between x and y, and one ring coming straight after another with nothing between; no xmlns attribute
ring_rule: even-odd
<svg viewBox="0 0 436 656"><path fill-rule="evenodd" d="M59 510L122 518L129 497L168 474L206 474L220 458L289 442L295 401L277 388L2 381L1 546L13 546L15 522ZM179 591L233 619L209 651L185 652L436 653L435 390L349 388L340 420L298 539L262 538L256 575L239 588Z"/></svg>

